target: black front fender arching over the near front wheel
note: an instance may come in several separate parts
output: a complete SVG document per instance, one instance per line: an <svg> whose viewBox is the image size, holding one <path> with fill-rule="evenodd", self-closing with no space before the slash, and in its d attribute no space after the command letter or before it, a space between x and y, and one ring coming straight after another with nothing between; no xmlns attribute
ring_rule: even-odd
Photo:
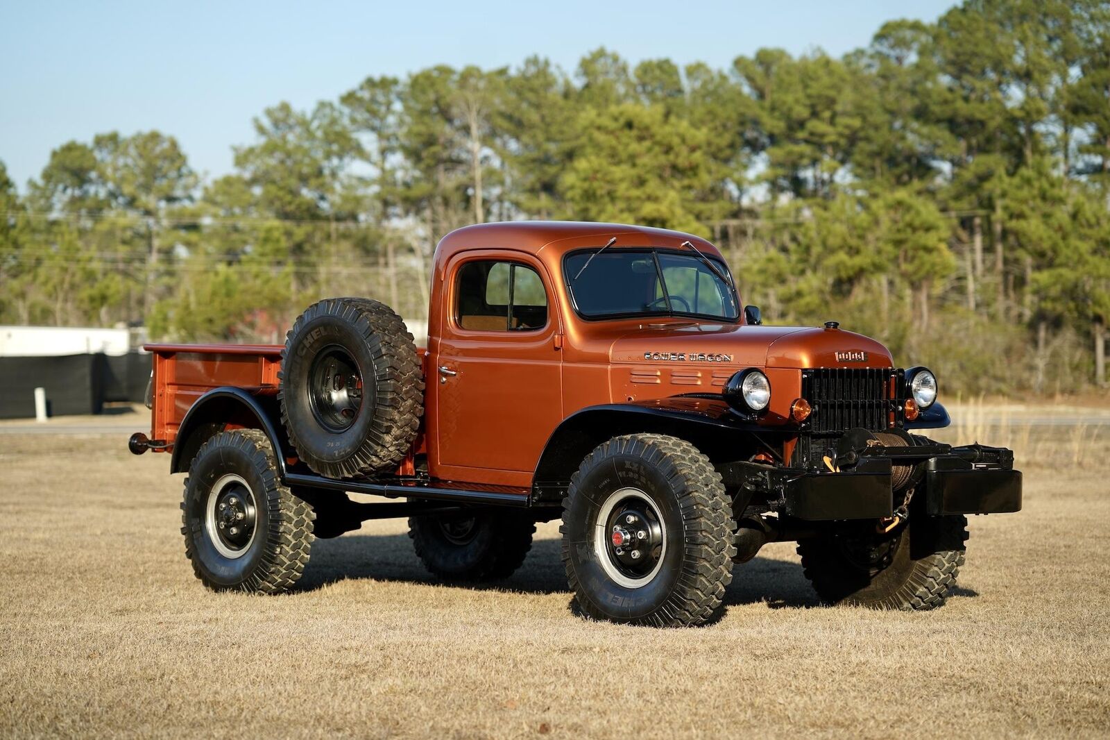
<svg viewBox="0 0 1110 740"><path fill-rule="evenodd" d="M541 489L565 489L589 452L623 434L668 434L685 439L714 463L747 459L761 449L756 436L788 430L741 419L719 398L674 397L657 401L592 406L572 413L552 432L533 476ZM795 431L796 433L796 431Z"/></svg>

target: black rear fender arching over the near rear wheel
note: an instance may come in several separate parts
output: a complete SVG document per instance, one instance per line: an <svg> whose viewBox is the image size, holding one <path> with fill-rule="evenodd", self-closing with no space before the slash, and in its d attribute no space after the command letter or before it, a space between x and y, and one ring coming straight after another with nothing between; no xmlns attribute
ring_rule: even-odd
<svg viewBox="0 0 1110 740"><path fill-rule="evenodd" d="M201 448L226 429L261 429L278 459L278 472L285 478L285 450L290 449L281 412L273 396L253 396L242 388L213 388L196 399L181 420L170 457L170 472L188 472Z"/></svg>

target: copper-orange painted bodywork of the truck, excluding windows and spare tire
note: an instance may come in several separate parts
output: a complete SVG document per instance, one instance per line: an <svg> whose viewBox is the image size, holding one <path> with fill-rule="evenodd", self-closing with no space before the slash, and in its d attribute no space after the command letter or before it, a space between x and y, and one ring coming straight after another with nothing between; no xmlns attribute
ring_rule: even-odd
<svg viewBox="0 0 1110 740"><path fill-rule="evenodd" d="M666 248L720 257L708 241L663 229L606 223L506 222L458 229L433 259L425 419L420 449L436 480L526 490L558 423L583 408L685 393L718 393L737 370L767 373L761 423L788 422L801 369L889 368L879 342L839 329L746 326L679 317L591 321L573 309L563 258L583 248ZM693 252L692 252L693 253ZM543 279L547 323L527 331L464 329L454 316L456 276L472 260L507 260ZM275 392L281 347L151 346L154 439L172 441L184 411L218 386ZM848 357L837 353L850 352ZM444 367L455 374L441 374Z"/></svg>

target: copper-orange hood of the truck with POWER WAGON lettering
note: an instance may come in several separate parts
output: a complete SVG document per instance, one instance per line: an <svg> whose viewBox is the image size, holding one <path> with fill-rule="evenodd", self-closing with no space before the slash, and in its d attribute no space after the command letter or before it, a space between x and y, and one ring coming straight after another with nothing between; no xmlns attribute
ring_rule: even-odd
<svg viewBox="0 0 1110 740"><path fill-rule="evenodd" d="M619 337L613 362L668 362L738 368L889 368L881 343L842 329L737 324L657 324Z"/></svg>

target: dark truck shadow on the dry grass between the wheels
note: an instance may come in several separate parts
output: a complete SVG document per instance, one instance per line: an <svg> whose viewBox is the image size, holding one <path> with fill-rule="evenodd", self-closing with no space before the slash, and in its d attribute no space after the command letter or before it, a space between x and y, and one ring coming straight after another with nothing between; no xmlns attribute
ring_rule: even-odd
<svg viewBox="0 0 1110 740"><path fill-rule="evenodd" d="M557 539L536 540L519 570L502 581L445 584L519 593L566 592L559 547ZM349 579L443 583L424 570L406 534L352 533L333 540L316 540L312 546L312 559L295 590L314 591ZM760 602L771 609L820 606L799 564L757 557L733 570L733 582L725 592L725 607Z"/></svg>

